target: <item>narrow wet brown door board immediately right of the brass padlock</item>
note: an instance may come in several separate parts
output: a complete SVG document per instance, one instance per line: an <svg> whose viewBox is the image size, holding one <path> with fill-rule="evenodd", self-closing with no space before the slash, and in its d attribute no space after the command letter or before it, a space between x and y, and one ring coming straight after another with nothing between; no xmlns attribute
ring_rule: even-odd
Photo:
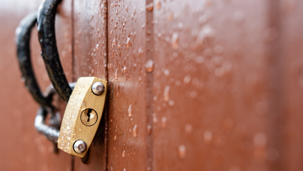
<svg viewBox="0 0 303 171"><path fill-rule="evenodd" d="M109 1L109 170L147 170L145 25L144 1Z"/></svg>

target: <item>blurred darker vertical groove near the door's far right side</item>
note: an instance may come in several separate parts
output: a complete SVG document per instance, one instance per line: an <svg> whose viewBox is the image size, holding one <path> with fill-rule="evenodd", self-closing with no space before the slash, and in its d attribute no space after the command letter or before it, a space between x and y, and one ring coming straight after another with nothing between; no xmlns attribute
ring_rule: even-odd
<svg viewBox="0 0 303 171"><path fill-rule="evenodd" d="M269 85L269 114L267 117L267 130L269 133L268 146L279 152L279 158L269 161L269 170L284 170L281 157L284 156L282 132L283 132L283 63L281 53L281 21L280 0L268 1L268 32L270 35L268 47L268 85ZM272 37L271 37L272 36ZM265 42L267 43L267 42Z"/></svg>

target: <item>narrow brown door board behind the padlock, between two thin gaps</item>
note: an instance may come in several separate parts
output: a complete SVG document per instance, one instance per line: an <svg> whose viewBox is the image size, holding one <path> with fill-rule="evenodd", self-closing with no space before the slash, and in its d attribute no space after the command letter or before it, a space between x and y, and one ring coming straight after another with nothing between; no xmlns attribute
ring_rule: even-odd
<svg viewBox="0 0 303 171"><path fill-rule="evenodd" d="M74 81L94 76L107 80L107 3L75 0L74 8ZM105 109L96 137L90 147L87 164L74 159L74 170L106 170L107 123Z"/></svg>

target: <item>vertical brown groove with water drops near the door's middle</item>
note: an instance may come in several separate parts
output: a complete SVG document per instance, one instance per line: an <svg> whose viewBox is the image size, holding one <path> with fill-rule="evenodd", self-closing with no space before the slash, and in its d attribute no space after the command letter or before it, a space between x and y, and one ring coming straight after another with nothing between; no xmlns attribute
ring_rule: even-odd
<svg viewBox="0 0 303 171"><path fill-rule="evenodd" d="M145 6L149 4L153 4L153 0L146 0ZM146 31L150 32L150 34L146 34L146 60L145 62L151 60L154 61L154 10L145 10L146 14ZM147 106L147 134L146 134L146 146L147 146L147 170L153 170L153 120L152 114L154 113L154 92L153 92L153 85L154 85L154 73L147 72L146 76L146 89L145 89L145 103ZM151 132L149 134L149 129Z"/></svg>

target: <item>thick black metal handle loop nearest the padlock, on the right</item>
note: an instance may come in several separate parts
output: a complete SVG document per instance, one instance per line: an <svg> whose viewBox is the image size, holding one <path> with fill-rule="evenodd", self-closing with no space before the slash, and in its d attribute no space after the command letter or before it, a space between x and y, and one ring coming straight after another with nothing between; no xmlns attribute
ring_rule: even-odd
<svg viewBox="0 0 303 171"><path fill-rule="evenodd" d="M59 97L67 102L68 99L70 99L70 94L72 94L72 88L68 85L61 66L54 28L56 9L61 1L62 0L43 1L39 7L37 23L41 56L43 57L45 68L48 71L48 76Z"/></svg>

